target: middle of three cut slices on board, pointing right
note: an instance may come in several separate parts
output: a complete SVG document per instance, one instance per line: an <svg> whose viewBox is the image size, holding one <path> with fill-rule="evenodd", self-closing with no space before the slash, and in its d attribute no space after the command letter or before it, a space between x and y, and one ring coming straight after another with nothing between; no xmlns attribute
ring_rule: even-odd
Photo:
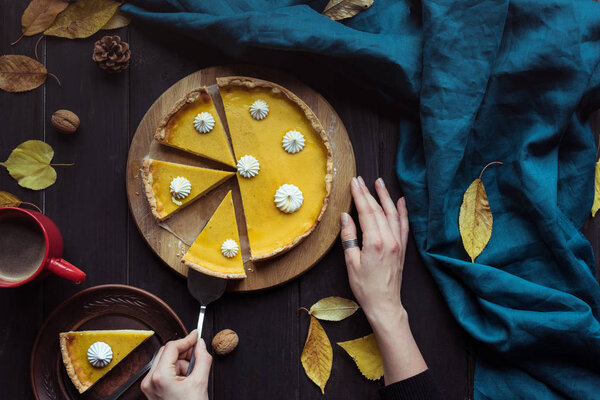
<svg viewBox="0 0 600 400"><path fill-rule="evenodd" d="M167 219L174 212L192 203L231 176L233 176L233 172L192 167L149 158L144 159L142 163L146 197L148 197L152 214L159 221ZM174 184L185 186L179 188L182 190L179 198L173 191Z"/></svg>

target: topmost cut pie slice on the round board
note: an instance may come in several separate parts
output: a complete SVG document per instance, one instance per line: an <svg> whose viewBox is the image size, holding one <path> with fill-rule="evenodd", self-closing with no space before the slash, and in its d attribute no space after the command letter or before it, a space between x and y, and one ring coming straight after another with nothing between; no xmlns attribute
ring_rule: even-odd
<svg viewBox="0 0 600 400"><path fill-rule="evenodd" d="M178 101L160 122L154 138L167 146L235 167L229 140L206 87L195 89Z"/></svg>

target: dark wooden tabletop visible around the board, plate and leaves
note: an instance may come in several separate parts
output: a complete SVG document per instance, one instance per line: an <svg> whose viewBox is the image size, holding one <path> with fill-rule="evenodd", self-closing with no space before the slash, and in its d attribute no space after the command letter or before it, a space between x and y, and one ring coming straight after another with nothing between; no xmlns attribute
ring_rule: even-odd
<svg viewBox="0 0 600 400"><path fill-rule="evenodd" d="M0 0L0 54L33 57L36 38L10 42L20 34L27 1ZM91 60L94 41L119 34L132 49L130 68L106 74ZM61 229L65 259L88 274L76 286L54 276L17 289L0 289L0 399L33 397L29 357L45 318L66 298L85 287L124 283L165 300L188 329L196 323L198 305L185 280L156 257L130 217L125 194L125 164L131 138L152 102L172 84L201 68L254 62L282 69L320 92L337 110L355 149L358 173L370 183L383 177L394 198L397 113L401 105L384 103L375 93L345 80L335 65L306 54L261 52L232 59L215 48L170 32L136 24L88 39L43 39L40 61L56 74L31 92L0 92L0 159L25 140L39 139L55 150L56 184L33 192L19 187L0 170L0 190L37 204ZM339 66L338 66L339 67ZM57 109L81 119L79 131L62 135L50 124ZM597 125L597 124L596 124ZM598 249L598 225L588 221L585 232ZM215 357L211 399L376 399L382 382L369 382L335 342L371 332L362 314L323 326L333 344L334 361L325 396L300 364L309 318L297 313L327 296L352 298L340 245L311 271L282 287L245 295L226 295L209 307L204 337L221 329L240 336L229 356ZM446 399L472 397L473 345L451 317L447 306L410 240L403 283L403 301L425 360ZM58 351L58 343L56 351Z"/></svg>

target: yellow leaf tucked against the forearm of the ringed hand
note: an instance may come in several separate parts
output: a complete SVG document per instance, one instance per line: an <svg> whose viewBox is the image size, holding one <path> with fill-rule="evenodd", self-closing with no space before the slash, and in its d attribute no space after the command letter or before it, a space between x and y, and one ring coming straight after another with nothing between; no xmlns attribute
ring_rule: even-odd
<svg viewBox="0 0 600 400"><path fill-rule="evenodd" d="M358 339L339 342L338 345L352 357L365 378L374 381L383 376L383 360L375 334L371 333Z"/></svg>

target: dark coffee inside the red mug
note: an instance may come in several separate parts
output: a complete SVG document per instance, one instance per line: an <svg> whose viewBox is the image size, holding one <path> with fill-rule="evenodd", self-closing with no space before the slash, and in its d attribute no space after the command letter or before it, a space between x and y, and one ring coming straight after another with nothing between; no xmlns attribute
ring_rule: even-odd
<svg viewBox="0 0 600 400"><path fill-rule="evenodd" d="M35 222L22 214L0 216L0 277L19 282L44 261L46 239Z"/></svg>

